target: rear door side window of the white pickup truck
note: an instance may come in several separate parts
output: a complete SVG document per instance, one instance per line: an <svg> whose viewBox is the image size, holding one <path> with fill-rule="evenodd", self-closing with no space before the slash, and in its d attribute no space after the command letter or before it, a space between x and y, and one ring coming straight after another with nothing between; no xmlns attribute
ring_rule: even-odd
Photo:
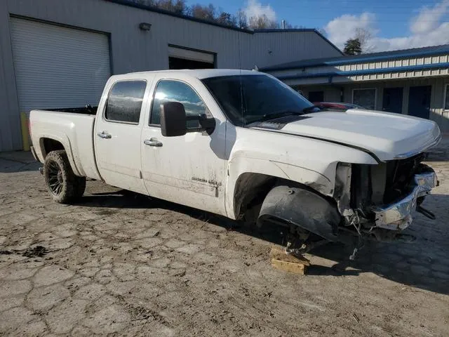
<svg viewBox="0 0 449 337"><path fill-rule="evenodd" d="M105 119L138 124L146 81L119 81L112 86L105 110Z"/></svg>

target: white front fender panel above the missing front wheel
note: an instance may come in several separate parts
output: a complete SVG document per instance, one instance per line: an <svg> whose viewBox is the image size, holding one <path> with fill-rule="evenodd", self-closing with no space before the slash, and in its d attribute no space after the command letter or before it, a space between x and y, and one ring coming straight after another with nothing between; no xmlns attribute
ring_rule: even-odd
<svg viewBox="0 0 449 337"><path fill-rule="evenodd" d="M239 190L236 183L243 174L290 180L333 197L339 162L377 164L370 154L345 145L250 128L229 126L227 142L225 207L227 216L234 219L239 216L234 212L234 195Z"/></svg>

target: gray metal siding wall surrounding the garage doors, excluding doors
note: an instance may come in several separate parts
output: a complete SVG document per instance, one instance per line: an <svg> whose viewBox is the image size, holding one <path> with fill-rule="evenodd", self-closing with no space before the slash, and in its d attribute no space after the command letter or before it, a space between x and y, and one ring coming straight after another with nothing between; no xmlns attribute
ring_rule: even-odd
<svg viewBox="0 0 449 337"><path fill-rule="evenodd" d="M113 74L168 69L168 44L216 53L219 68L252 69L340 55L314 32L249 34L105 0L1 0L0 151L22 147L10 14L108 33ZM140 22L151 23L150 31L140 31Z"/></svg>

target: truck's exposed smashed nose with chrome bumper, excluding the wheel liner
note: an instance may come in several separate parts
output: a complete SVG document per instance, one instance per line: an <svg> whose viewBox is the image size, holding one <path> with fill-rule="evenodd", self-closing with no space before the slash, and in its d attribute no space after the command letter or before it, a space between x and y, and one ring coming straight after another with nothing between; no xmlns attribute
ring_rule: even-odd
<svg viewBox="0 0 449 337"><path fill-rule="evenodd" d="M423 160L424 154L417 154L377 165L338 164L334 199L344 230L380 242L412 241L402 231L413 211L435 218L422 202L438 180Z"/></svg>

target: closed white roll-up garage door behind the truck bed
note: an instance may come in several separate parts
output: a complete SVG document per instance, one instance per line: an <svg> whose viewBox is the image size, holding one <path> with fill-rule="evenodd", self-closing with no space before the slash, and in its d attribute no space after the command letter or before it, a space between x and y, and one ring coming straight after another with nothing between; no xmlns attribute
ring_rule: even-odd
<svg viewBox="0 0 449 337"><path fill-rule="evenodd" d="M106 34L11 18L21 112L98 105L110 76Z"/></svg>

